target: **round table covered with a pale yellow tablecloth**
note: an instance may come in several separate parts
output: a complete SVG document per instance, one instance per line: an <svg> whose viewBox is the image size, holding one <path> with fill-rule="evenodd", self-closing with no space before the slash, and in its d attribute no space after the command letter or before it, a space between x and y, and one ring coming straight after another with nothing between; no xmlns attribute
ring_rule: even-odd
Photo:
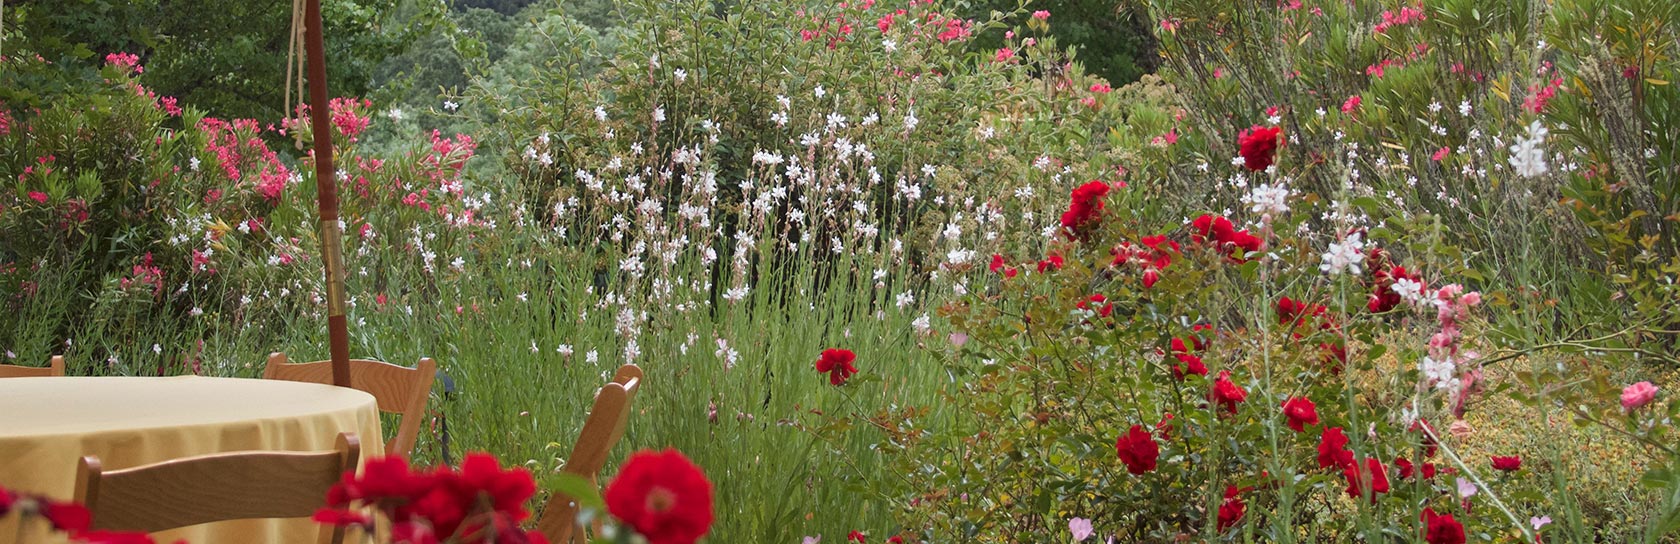
<svg viewBox="0 0 1680 544"><path fill-rule="evenodd" d="M277 379L7 378L0 379L0 487L69 500L82 455L121 470L223 452L326 452L341 432L361 438L363 460L383 453L371 395ZM17 514L0 520L0 544L17 534L15 524ZM318 534L309 519L286 519L155 536L160 542L208 544L312 542Z"/></svg>

